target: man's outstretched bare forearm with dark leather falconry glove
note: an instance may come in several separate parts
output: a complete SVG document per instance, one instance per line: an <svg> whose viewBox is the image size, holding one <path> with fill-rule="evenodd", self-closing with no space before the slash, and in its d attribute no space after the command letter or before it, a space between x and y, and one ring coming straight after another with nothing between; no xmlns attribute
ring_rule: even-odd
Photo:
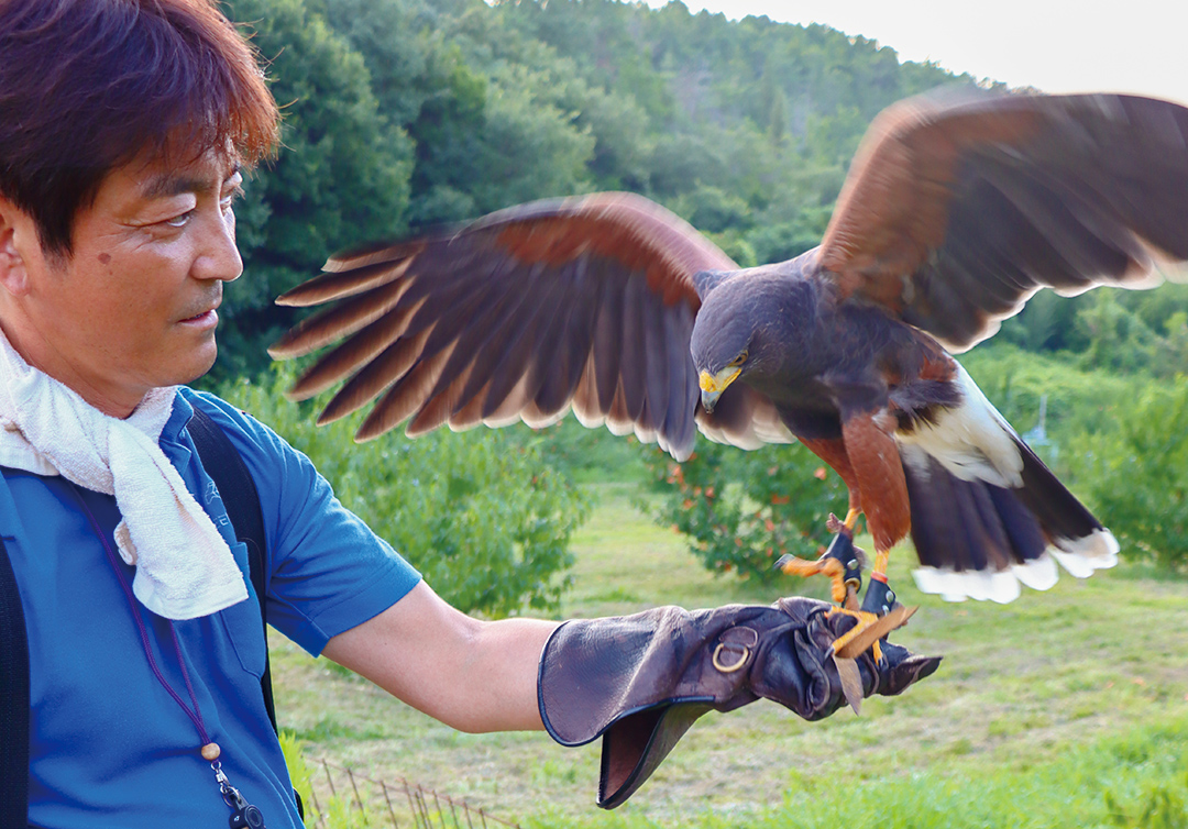
<svg viewBox="0 0 1188 829"><path fill-rule="evenodd" d="M795 597L568 624L484 622L421 583L331 639L326 654L461 730L545 728L565 746L601 736L598 804L613 809L710 709L766 697L819 720L847 702L857 710L872 694L899 694L936 670L940 659L887 641L846 656L836 645L854 621ZM903 614L880 621L885 634Z"/></svg>

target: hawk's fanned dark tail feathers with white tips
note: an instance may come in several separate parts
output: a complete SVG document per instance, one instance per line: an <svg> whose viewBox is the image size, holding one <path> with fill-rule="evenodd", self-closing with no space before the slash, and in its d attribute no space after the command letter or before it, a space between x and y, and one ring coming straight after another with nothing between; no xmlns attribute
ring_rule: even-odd
<svg viewBox="0 0 1188 829"><path fill-rule="evenodd" d="M917 587L949 601L1009 602L1020 582L1037 590L1055 584L1056 562L1078 578L1117 564L1113 534L990 411L1001 430L998 453L1015 456L1005 472L984 455L981 463L958 464L929 451L927 441L901 445L922 564Z"/></svg>

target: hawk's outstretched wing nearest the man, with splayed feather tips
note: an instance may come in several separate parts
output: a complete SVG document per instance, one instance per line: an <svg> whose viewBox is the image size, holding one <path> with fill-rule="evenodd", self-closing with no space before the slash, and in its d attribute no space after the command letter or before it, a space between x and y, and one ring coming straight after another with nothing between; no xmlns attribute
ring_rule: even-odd
<svg viewBox="0 0 1188 829"><path fill-rule="evenodd" d="M270 352L292 357L348 337L291 395L304 399L349 376L323 411L326 423L383 394L360 439L410 418L410 435L442 424L543 425L571 406L586 425L634 431L684 458L695 414L719 439L745 443L781 428L770 403L744 388L721 423L697 412L689 337L701 300L693 276L737 267L640 196L535 202L456 233L331 258L327 273L278 302L341 302Z"/></svg>

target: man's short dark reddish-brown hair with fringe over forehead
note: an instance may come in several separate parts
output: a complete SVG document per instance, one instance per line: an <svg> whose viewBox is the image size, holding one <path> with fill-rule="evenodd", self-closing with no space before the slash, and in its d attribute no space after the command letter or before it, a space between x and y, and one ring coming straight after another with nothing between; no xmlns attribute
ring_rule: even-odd
<svg viewBox="0 0 1188 829"><path fill-rule="evenodd" d="M255 53L214 0L0 0L0 195L48 253L70 254L78 210L141 153L253 164L277 137Z"/></svg>

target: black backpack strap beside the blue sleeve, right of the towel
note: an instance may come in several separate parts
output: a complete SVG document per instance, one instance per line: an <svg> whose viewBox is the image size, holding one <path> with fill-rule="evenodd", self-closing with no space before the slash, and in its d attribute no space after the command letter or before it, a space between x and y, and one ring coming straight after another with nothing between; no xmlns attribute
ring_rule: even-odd
<svg viewBox="0 0 1188 829"><path fill-rule="evenodd" d="M219 428L210 416L197 406L194 417L187 426L194 448L198 450L202 466L210 480L219 487L219 495L227 507L227 518L235 527L235 538L247 545L247 567L260 601L260 619L264 621L264 675L260 677L260 690L264 692L264 707L268 711L272 730L277 729L277 710L272 703L272 670L268 664L268 619L265 610L264 562L267 542L264 537L264 515L260 512L260 495L255 491L255 481L239 451L232 444L226 432Z"/></svg>

